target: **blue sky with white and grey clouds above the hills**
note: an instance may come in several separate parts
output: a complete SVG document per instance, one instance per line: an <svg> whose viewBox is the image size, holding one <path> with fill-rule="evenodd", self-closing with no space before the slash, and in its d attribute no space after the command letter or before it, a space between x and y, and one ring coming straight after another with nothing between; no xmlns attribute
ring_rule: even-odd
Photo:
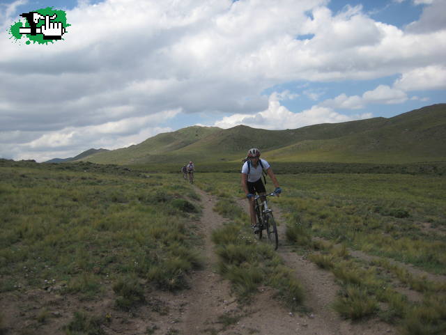
<svg viewBox="0 0 446 335"><path fill-rule="evenodd" d="M8 33L47 6L66 11L64 40ZM0 0L0 157L446 102L445 13L446 0Z"/></svg>

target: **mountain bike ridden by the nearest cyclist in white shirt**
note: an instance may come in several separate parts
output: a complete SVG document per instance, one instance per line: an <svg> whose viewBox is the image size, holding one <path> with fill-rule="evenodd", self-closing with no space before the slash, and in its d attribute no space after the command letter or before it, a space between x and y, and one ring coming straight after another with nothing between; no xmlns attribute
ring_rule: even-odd
<svg viewBox="0 0 446 335"><path fill-rule="evenodd" d="M274 245L274 249L277 250L277 247L279 247L279 235L277 234L276 221L272 216L272 209L268 207L268 196L277 196L277 194L272 192L264 196L254 196L254 210L259 226L259 240L262 239L263 230L266 230L268 243Z"/></svg>

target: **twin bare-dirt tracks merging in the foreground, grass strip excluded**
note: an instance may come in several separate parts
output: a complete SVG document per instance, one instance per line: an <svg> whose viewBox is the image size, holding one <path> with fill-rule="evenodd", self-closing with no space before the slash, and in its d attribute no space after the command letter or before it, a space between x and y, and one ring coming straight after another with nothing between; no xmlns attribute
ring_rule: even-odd
<svg viewBox="0 0 446 335"><path fill-rule="evenodd" d="M358 324L342 320L330 304L334 301L339 286L330 272L320 270L316 265L293 253L284 245L284 224L279 226L278 253L286 265L295 270L295 275L305 287L305 308L308 312L291 313L284 305L274 299L274 290L260 288L249 306L239 306L231 295L229 283L215 272L217 256L213 250L210 235L226 219L213 211L217 202L198 188L201 196L203 215L198 224L203 235L203 257L205 266L192 276L192 288L183 293L185 306L180 322L175 325L178 334L222 334L222 335L376 335L395 334L394 329L378 320L369 320ZM240 207L247 210L247 201L239 201ZM282 221L275 206L277 221ZM222 323L223 316L228 322ZM164 328L164 327L163 327ZM164 328L165 329L165 328ZM157 333L158 334L158 333ZM160 333L161 334L161 333ZM163 333L164 334L164 333Z"/></svg>

